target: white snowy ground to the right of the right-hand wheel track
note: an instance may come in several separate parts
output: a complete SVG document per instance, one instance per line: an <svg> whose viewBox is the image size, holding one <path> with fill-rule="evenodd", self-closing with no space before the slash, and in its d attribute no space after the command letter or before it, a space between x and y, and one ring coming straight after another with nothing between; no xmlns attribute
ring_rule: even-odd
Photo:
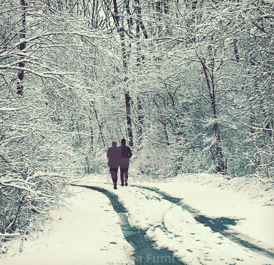
<svg viewBox="0 0 274 265"><path fill-rule="evenodd" d="M184 199L184 203L208 217L243 219L234 231L248 235L254 243L274 249L274 207L265 206L263 199L249 199L240 192L224 190L212 185L192 182L139 184L159 188L161 191ZM265 198L264 198L265 200ZM266 247L267 247L266 246Z"/></svg>

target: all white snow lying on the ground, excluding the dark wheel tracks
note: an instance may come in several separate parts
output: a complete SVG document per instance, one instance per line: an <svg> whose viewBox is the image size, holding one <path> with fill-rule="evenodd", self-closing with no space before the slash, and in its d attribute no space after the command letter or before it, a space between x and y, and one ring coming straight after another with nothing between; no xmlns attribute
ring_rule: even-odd
<svg viewBox="0 0 274 265"><path fill-rule="evenodd" d="M167 247L185 264L274 265L274 260L213 233L188 211L164 200L159 194L133 186L156 187L182 198L184 203L208 217L242 219L232 227L233 231L273 251L274 208L263 206L266 198L249 199L240 192L218 188L218 183L208 181L209 178L206 175L181 176L159 183L129 178L129 187L121 187L118 183L118 189L113 190L109 175L92 175L77 184L102 187L117 194L129 211L130 224L146 231L159 248ZM19 247L15 242L1 264L132 264L133 248L123 237L117 214L107 197L89 189L75 189L84 192L71 199L74 203L72 211L58 209L53 214L58 223L48 225L44 232L40 232L38 240L24 242L20 257L19 254L10 257ZM115 257L116 254L119 257Z"/></svg>

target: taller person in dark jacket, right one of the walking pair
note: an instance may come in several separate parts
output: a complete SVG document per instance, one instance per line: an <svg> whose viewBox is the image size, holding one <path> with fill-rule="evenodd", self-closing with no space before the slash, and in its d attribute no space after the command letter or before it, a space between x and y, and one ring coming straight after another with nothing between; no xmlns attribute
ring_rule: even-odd
<svg viewBox="0 0 274 265"><path fill-rule="evenodd" d="M127 186L129 159L132 157L132 153L129 146L125 145L125 139L121 140L121 146L119 146L119 148L121 148L121 159L120 159L121 186L124 186L124 182L125 182L125 186Z"/></svg>

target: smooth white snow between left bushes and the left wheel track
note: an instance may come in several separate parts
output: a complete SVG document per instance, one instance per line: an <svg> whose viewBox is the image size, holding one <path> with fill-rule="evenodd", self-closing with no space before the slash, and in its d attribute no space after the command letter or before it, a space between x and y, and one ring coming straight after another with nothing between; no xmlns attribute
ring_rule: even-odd
<svg viewBox="0 0 274 265"><path fill-rule="evenodd" d="M13 241L0 264L86 265L134 264L109 199L98 191L73 187L71 205L52 212L52 221L36 240ZM80 192L80 193L79 193ZM1 255L0 255L1 257Z"/></svg>

